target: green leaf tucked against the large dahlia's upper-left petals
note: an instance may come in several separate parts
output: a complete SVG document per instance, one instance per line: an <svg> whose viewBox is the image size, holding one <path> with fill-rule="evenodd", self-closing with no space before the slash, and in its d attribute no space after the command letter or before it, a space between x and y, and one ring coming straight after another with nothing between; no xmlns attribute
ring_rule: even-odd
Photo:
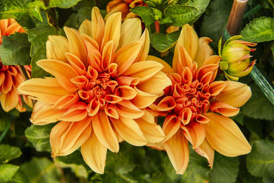
<svg viewBox="0 0 274 183"><path fill-rule="evenodd" d="M54 27L42 26L30 29L28 32L29 42L32 43L30 56L32 57L32 77L45 77L49 75L42 70L36 62L47 58L46 42L49 35L56 35L58 31Z"/></svg>

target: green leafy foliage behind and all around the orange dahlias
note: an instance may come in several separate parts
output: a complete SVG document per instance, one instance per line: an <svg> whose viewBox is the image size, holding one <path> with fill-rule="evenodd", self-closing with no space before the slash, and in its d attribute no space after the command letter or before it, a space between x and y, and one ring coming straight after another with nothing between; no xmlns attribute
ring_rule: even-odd
<svg viewBox="0 0 274 183"><path fill-rule="evenodd" d="M132 8L151 33L151 54L171 63L172 47L178 32L165 34L171 25L193 24L199 36L217 43L225 31L232 0L145 1L149 6ZM47 36L64 35L62 27L78 28L90 19L91 9L98 6L106 14L107 0L1 0L0 19L14 18L27 34L5 36L0 47L4 64L32 64L32 77L47 73L36 66L46 58ZM258 42L253 59L269 82L274 81L274 1L249 0L246 12L260 5L243 22L242 36ZM265 16L265 17L262 17ZM261 17L261 18L260 18ZM268 18L266 18L268 17ZM160 33L154 22L159 21ZM133 147L121 143L118 154L108 151L105 174L90 170L80 151L64 157L51 158L49 132L54 124L36 126L29 122L31 110L9 113L0 109L0 182L274 182L274 106L256 86L251 77L240 82L251 86L252 97L234 117L234 121L252 145L250 154L227 158L215 153L213 169L195 151L184 175L176 175L164 151L149 147ZM192 149L190 147L190 149Z"/></svg>

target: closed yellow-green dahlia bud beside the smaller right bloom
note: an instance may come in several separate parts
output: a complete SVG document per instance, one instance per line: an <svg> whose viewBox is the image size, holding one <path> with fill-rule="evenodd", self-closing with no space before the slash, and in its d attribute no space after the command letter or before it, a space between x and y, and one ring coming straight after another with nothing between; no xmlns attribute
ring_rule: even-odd
<svg viewBox="0 0 274 183"><path fill-rule="evenodd" d="M225 42L223 50L221 49L221 40L219 42L219 55L222 60L220 62L220 69L225 72L225 77L228 80L238 81L239 77L248 75L256 60L250 63L250 52L256 49L251 49L257 44L238 40L242 36L233 36Z"/></svg>

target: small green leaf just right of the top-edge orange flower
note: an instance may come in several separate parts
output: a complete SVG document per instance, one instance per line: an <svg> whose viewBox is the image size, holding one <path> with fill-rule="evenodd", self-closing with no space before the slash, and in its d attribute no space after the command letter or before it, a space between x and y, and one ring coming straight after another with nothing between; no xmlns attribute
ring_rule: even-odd
<svg viewBox="0 0 274 183"><path fill-rule="evenodd" d="M146 6L137 6L130 9L130 11L140 16L145 25L151 25L151 23L154 23L154 16L151 8Z"/></svg>

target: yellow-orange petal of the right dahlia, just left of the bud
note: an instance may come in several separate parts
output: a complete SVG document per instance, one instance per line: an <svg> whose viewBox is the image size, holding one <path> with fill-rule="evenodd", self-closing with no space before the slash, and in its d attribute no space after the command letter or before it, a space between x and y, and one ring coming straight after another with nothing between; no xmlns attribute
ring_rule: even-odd
<svg viewBox="0 0 274 183"><path fill-rule="evenodd" d="M210 48L210 42L212 40L208 37L199 38L199 47L195 61L197 62L198 68L203 66L203 62L212 56L213 50Z"/></svg>

